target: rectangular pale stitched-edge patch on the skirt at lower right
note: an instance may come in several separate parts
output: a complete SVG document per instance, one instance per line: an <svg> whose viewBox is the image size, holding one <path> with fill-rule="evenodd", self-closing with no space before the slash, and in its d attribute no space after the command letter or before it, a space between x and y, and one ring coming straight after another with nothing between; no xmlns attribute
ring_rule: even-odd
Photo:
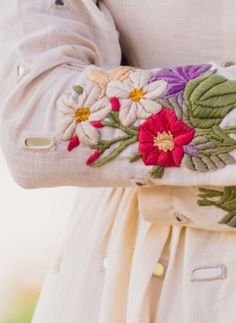
<svg viewBox="0 0 236 323"><path fill-rule="evenodd" d="M196 267L192 271L193 282L224 279L226 277L226 266L204 266Z"/></svg>

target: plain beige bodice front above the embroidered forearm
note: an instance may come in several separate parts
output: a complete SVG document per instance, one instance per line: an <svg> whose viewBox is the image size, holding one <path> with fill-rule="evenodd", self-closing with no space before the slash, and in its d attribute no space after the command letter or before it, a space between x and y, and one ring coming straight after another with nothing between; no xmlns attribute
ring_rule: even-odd
<svg viewBox="0 0 236 323"><path fill-rule="evenodd" d="M130 65L236 62L236 2L103 0Z"/></svg>

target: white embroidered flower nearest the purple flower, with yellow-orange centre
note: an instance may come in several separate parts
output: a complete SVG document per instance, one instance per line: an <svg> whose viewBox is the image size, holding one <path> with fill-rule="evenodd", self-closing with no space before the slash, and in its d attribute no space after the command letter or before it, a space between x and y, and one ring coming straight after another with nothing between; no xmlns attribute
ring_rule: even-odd
<svg viewBox="0 0 236 323"><path fill-rule="evenodd" d="M119 80L108 84L107 96L120 101L119 118L123 126L130 126L137 119L146 119L161 110L156 99L166 91L168 83L164 80L148 83L151 76L151 71L138 69L129 74L132 85Z"/></svg>

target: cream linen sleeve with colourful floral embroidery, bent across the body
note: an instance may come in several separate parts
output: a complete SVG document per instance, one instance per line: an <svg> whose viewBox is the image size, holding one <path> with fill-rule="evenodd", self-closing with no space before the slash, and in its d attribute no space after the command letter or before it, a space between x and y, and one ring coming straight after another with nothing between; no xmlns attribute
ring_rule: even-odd
<svg viewBox="0 0 236 323"><path fill-rule="evenodd" d="M236 184L236 66L122 66L104 5L0 4L1 144L15 181Z"/></svg>

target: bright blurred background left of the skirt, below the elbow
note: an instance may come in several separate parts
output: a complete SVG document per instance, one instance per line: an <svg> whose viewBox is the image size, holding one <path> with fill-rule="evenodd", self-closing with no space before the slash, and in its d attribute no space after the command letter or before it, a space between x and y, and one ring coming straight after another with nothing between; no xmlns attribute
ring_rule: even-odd
<svg viewBox="0 0 236 323"><path fill-rule="evenodd" d="M78 192L23 189L0 151L0 323L30 323Z"/></svg>

